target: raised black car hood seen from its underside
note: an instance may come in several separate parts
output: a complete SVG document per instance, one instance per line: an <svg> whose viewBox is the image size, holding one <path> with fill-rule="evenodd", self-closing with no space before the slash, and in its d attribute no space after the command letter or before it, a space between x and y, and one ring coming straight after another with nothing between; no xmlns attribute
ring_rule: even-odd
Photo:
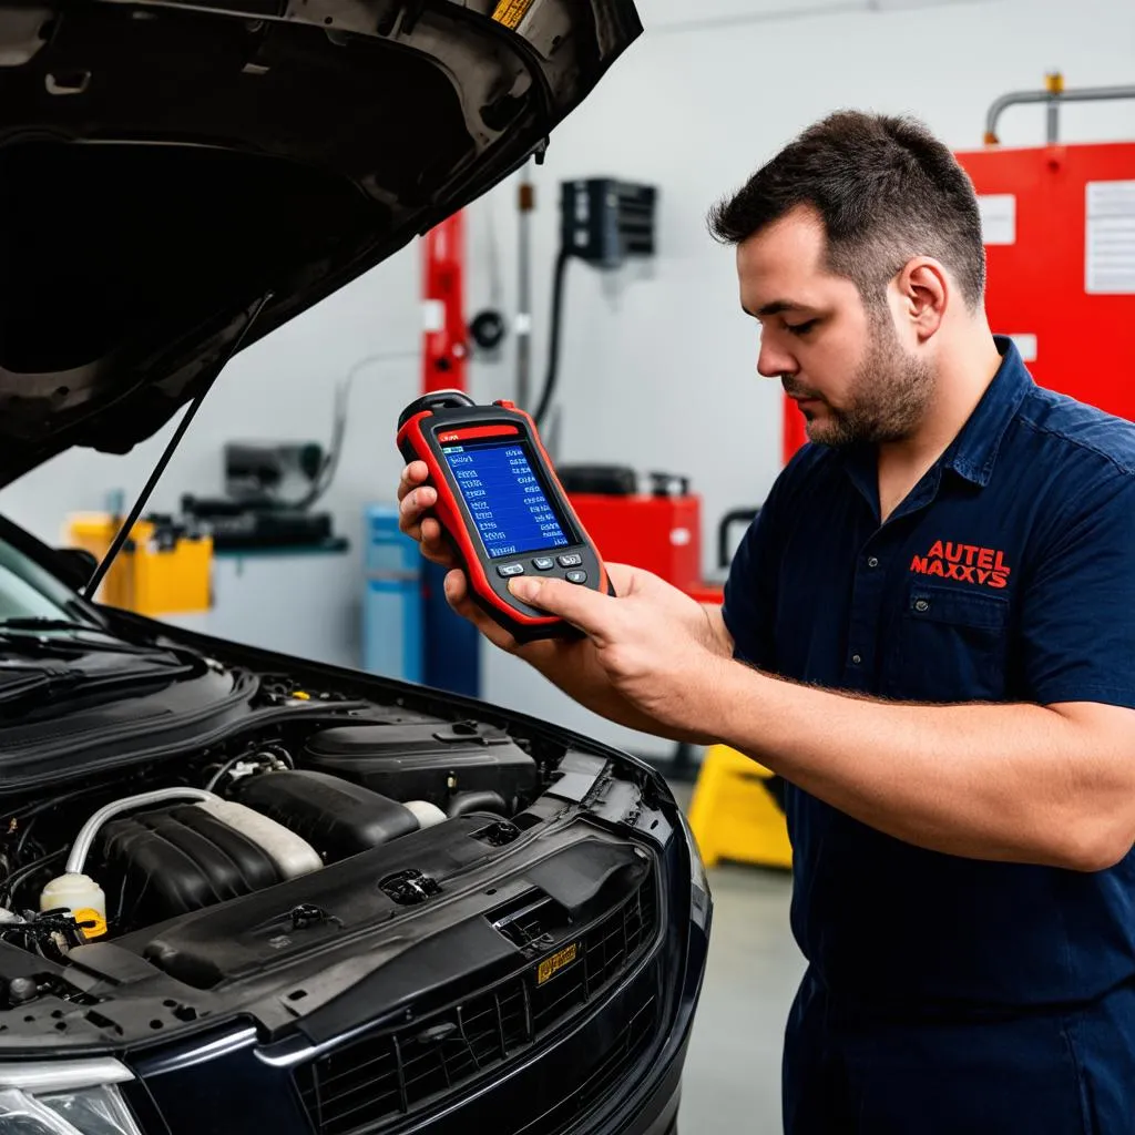
<svg viewBox="0 0 1135 1135"><path fill-rule="evenodd" d="M0 485L151 436L266 294L242 346L539 153L640 31L632 0L9 0Z"/></svg>

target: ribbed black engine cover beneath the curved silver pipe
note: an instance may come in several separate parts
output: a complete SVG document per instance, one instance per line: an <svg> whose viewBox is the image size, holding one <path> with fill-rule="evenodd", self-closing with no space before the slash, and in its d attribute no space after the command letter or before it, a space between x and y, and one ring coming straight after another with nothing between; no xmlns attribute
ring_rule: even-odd
<svg viewBox="0 0 1135 1135"><path fill-rule="evenodd" d="M283 881L259 843L192 804L111 821L98 849L98 880L119 925L162 922Z"/></svg>

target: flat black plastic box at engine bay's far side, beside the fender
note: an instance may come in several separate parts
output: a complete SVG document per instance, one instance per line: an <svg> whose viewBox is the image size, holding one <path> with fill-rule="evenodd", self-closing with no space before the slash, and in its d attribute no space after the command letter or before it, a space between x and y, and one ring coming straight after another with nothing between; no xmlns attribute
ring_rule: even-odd
<svg viewBox="0 0 1135 1135"><path fill-rule="evenodd" d="M496 792L511 814L539 782L536 762L507 733L474 722L327 729L310 738L304 763L443 810L457 793Z"/></svg>

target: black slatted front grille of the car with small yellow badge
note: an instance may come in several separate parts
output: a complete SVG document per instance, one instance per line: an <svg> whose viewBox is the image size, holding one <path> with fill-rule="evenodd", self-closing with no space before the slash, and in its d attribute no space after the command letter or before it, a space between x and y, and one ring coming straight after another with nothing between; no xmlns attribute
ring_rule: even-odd
<svg viewBox="0 0 1135 1135"><path fill-rule="evenodd" d="M573 964L544 984L535 966L401 1029L363 1037L296 1069L319 1135L348 1135L409 1115L520 1056L644 956L658 925L653 874L578 940ZM654 1025L654 998L583 1069L588 1099L616 1078ZM647 1022L649 1018L649 1022ZM579 1101L577 1101L579 1102ZM550 1129L550 1128L549 1128Z"/></svg>

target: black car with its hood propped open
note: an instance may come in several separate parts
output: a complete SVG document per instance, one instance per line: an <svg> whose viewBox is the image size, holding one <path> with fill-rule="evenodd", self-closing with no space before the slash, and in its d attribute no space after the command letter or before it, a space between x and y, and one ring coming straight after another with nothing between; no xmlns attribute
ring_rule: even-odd
<svg viewBox="0 0 1135 1135"><path fill-rule="evenodd" d="M539 154L639 31L629 0L9 5L0 484L151 436ZM0 1132L675 1129L711 900L654 771L98 606L89 571L0 522Z"/></svg>

